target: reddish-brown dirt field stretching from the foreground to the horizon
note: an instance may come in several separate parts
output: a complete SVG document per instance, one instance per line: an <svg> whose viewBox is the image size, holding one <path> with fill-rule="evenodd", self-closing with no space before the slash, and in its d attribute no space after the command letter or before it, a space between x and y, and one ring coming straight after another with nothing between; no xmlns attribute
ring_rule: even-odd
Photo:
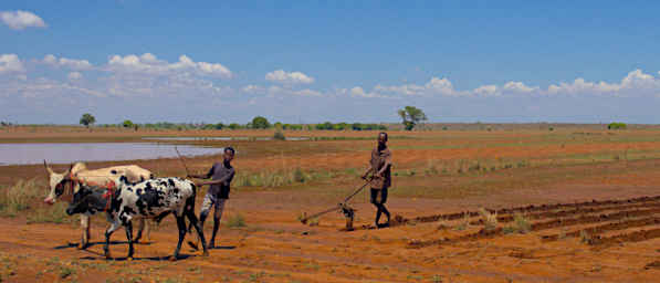
<svg viewBox="0 0 660 283"><path fill-rule="evenodd" d="M373 140L218 142L213 146L237 147L234 165L245 174L303 168L335 175L281 187L232 188L223 220L240 214L247 227L224 223L217 240L220 248L211 250L210 256L185 244L185 256L176 262L168 260L177 241L171 217L151 232L147 244L135 245L133 261L125 260L128 247L122 229L112 238L115 260L105 260L99 243L106 226L102 217L93 219L94 244L84 251L75 248L77 218L60 224L27 223L23 214L0 218L0 276L2 282L657 281L660 133L556 132L390 133L406 137L390 143L397 176L387 206L397 217L389 228L374 229L375 209L360 192L352 202L357 209L356 230L348 232L343 231L345 221L338 212L319 218L313 227L296 218L303 211L336 205L359 185L348 169L364 168ZM81 133L80 137L39 130L11 136L25 140L40 135L77 140L116 137ZM307 134L328 137L331 133ZM375 135L347 133L356 138ZM192 135L208 133L180 134ZM201 171L217 158L186 161ZM425 172L429 160L438 160L439 172ZM474 167L478 160L481 167ZM518 166L521 161L526 164ZM130 163L160 176L182 176L178 159ZM123 163L91 167L111 164ZM65 168L53 166L57 171ZM45 186L43 171L43 166L3 166L0 184L38 176L38 185ZM31 207L43 205L35 201ZM489 229L484 212L496 213ZM525 226L528 231L516 230ZM207 221L207 237L211 227Z"/></svg>

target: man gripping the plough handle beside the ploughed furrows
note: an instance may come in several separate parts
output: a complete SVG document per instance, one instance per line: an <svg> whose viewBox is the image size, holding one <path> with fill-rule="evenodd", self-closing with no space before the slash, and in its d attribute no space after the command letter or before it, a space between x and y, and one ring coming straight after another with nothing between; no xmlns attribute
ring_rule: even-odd
<svg viewBox="0 0 660 283"><path fill-rule="evenodd" d="M387 201L387 189L391 186L391 151L387 148L387 133L378 134L378 146L371 150L371 160L369 168L362 176L366 179L369 172L373 174L371 203L378 209L376 212L376 227L383 228L389 226L389 211L385 208ZM380 214L385 213L387 222L379 224Z"/></svg>

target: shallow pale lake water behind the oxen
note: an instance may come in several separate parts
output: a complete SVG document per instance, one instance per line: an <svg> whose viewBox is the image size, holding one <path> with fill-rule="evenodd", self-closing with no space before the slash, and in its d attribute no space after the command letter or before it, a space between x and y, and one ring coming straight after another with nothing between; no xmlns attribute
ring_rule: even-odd
<svg viewBox="0 0 660 283"><path fill-rule="evenodd" d="M222 148L177 146L184 156L212 155ZM70 164L75 161L116 161L177 157L175 147L155 143L81 143L81 144L0 144L0 166Z"/></svg>

